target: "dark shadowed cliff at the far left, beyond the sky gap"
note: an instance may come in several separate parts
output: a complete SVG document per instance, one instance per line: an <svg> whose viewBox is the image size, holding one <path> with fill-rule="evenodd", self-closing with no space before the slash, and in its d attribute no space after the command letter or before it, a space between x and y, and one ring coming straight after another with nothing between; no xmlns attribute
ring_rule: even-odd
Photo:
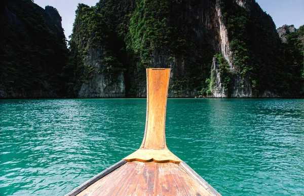
<svg viewBox="0 0 304 196"><path fill-rule="evenodd" d="M0 98L57 97L68 53L59 13L30 0L2 5Z"/></svg>

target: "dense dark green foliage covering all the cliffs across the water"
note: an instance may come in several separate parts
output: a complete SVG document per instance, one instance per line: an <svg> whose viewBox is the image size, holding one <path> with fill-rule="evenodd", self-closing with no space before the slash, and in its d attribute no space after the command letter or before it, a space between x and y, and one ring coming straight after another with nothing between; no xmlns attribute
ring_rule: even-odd
<svg viewBox="0 0 304 196"><path fill-rule="evenodd" d="M41 96L77 97L95 77L115 84L123 73L126 96L136 97L145 88L145 68L159 67L172 68L169 91L174 95L208 95L216 86L212 59L226 93L236 78L241 85L249 78L255 96L265 91L303 95L304 27L282 44L272 18L251 3L250 11L233 0L79 4L68 52L55 8L44 10L30 0L3 1L0 95L40 91L46 92ZM230 62L221 54L219 13L210 10L218 5Z"/></svg>

